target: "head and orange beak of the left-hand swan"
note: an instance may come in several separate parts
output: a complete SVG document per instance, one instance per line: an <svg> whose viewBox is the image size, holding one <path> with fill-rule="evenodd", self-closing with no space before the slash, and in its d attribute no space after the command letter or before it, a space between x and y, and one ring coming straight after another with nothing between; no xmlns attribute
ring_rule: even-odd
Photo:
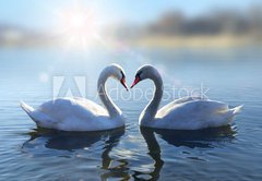
<svg viewBox="0 0 262 181"><path fill-rule="evenodd" d="M126 73L124 73L123 69L119 64L116 64L116 63L110 64L105 70L114 79L116 79L117 81L120 81L122 86L128 90L128 86L127 86L127 83L126 83Z"/></svg>

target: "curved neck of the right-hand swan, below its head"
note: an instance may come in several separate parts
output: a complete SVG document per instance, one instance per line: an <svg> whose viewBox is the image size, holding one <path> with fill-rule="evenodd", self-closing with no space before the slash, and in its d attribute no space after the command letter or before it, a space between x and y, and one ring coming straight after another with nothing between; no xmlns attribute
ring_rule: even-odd
<svg viewBox="0 0 262 181"><path fill-rule="evenodd" d="M145 123L155 119L163 97L163 81L160 75L159 74L152 75L150 79L154 82L155 92L152 100L143 110L141 123Z"/></svg>

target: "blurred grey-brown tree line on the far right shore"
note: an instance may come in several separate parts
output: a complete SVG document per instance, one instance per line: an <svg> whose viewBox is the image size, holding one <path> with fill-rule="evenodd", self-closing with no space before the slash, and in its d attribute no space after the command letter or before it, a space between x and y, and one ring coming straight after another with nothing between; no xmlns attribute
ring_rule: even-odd
<svg viewBox="0 0 262 181"><path fill-rule="evenodd" d="M188 17L170 11L146 25L123 24L115 29L117 37L140 36L196 36L196 35L257 35L262 36L262 5L237 10L215 10Z"/></svg>

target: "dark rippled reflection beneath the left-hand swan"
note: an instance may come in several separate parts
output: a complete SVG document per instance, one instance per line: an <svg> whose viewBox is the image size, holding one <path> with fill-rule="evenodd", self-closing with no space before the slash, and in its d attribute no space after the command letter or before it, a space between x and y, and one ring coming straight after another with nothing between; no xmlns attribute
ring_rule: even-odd
<svg viewBox="0 0 262 181"><path fill-rule="evenodd" d="M98 132L63 132L57 130L49 129L35 129L33 132L28 133L31 138L23 144L23 152L33 154L37 156L43 156L43 154L50 154L48 149L55 150L66 150L64 157L72 156L72 153L80 150L87 150L92 146L94 146L95 150L92 150L91 159L96 159L98 155L102 158L100 169L106 170L102 171L100 179L107 180L108 178L129 178L128 172L123 172L122 167L118 166L116 168L111 168L112 158L109 156L110 152L115 146L118 145L120 138L124 134L124 128L109 130L109 131L98 131ZM102 154L97 152L99 145L95 145L96 143L102 142ZM48 149L45 149L48 148ZM93 149L93 148L92 148ZM68 152L68 153L67 153ZM51 152L51 156L55 155L55 152ZM61 153L59 154L61 157ZM99 157L99 156L98 156ZM91 162L86 162L91 164Z"/></svg>

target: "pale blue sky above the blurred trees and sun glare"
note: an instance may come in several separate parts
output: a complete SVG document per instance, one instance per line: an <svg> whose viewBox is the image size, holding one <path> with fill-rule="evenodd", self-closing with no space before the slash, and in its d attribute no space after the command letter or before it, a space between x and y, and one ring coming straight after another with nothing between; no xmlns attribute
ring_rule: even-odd
<svg viewBox="0 0 262 181"><path fill-rule="evenodd" d="M155 20L168 10L180 10L195 15L217 8L246 9L261 0L8 0L0 1L0 24L22 25L29 28L48 29L57 22L57 12L75 4L92 9L99 21L144 23Z"/></svg>

